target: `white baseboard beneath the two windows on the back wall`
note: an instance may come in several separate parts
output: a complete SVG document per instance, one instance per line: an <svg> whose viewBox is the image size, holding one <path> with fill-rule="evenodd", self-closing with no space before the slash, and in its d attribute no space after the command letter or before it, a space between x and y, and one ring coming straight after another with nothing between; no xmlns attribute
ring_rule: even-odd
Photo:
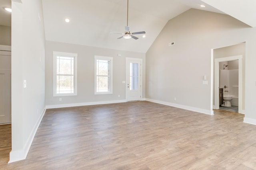
<svg viewBox="0 0 256 170"><path fill-rule="evenodd" d="M56 104L47 105L46 109L62 108L62 107L76 107L76 106L90 106L97 104L113 104L113 103L124 103L126 100L110 100L110 101L100 101L100 102L86 102L86 103L72 103L72 104Z"/></svg>

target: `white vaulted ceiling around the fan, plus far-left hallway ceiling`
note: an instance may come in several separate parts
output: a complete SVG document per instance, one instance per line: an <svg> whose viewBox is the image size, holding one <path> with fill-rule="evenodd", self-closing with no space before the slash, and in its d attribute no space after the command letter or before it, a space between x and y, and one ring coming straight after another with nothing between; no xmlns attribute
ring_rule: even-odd
<svg viewBox="0 0 256 170"><path fill-rule="evenodd" d="M0 25L10 26L10 14L3 10L10 3L0 0ZM42 0L42 4L46 40L141 53L146 53L168 20L190 8L226 13L256 26L255 0L129 0L130 31L146 31L146 38L117 39L120 35L110 32L124 33L127 0Z"/></svg>

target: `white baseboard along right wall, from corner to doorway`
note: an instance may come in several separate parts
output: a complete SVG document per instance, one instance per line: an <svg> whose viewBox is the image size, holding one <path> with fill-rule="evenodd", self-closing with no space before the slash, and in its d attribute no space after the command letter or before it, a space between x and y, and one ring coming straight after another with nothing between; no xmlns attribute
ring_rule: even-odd
<svg viewBox="0 0 256 170"><path fill-rule="evenodd" d="M164 105L172 106L172 107L178 107L178 108L181 108L181 109L196 111L196 112L204 113L204 114L208 114L208 115L213 115L214 114L213 110L200 109L200 108L197 108L197 107L184 106L184 105L180 105L180 104L163 102L163 101L160 101L160 100L153 100L153 99L148 99L148 98L146 98L146 100L149 101L149 102L164 104Z"/></svg>

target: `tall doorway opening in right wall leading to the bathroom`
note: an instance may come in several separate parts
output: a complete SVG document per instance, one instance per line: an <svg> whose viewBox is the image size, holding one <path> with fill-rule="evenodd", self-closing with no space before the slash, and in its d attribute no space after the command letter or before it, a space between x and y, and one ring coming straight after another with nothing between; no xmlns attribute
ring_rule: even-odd
<svg viewBox="0 0 256 170"><path fill-rule="evenodd" d="M212 49L213 109L224 108L220 98L220 92L223 90L222 95L229 97L229 99L225 98L226 101L230 100L232 96L232 100L226 102L226 106L236 106L236 108L226 107L224 109L244 113L245 49L245 42Z"/></svg>

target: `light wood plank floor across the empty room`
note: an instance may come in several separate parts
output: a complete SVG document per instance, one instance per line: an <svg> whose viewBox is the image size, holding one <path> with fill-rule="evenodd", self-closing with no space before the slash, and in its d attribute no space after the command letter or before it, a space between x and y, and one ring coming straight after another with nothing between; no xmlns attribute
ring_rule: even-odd
<svg viewBox="0 0 256 170"><path fill-rule="evenodd" d="M256 125L214 113L146 101L48 109L26 160L7 164L2 139L0 169L255 170Z"/></svg>

